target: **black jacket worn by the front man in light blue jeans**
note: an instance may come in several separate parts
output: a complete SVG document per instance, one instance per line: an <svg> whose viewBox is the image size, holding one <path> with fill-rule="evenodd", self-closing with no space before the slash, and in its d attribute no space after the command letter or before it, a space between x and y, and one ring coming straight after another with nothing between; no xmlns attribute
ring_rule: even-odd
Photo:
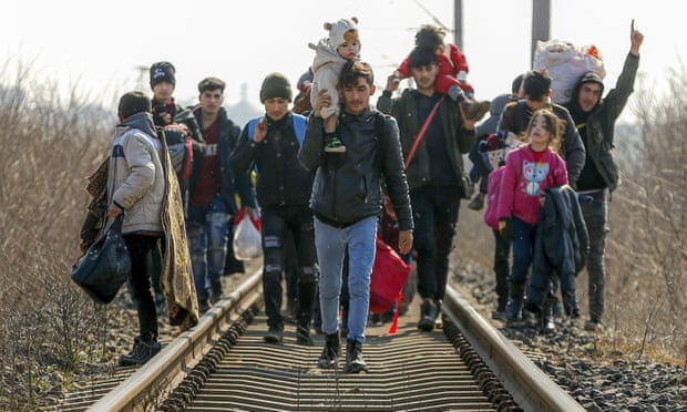
<svg viewBox="0 0 687 412"><path fill-rule="evenodd" d="M378 136L383 116L383 136ZM326 154L324 121L311 117L298 159L316 169L310 208L330 222L349 225L378 215L382 209L382 183L389 192L400 230L412 229L408 183L396 120L366 110L359 115L341 114L337 133L346 153Z"/></svg>

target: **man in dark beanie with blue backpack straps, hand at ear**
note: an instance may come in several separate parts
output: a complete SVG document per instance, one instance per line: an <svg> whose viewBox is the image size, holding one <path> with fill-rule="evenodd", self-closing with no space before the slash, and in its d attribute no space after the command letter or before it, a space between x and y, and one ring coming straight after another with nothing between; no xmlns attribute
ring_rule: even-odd
<svg viewBox="0 0 687 412"><path fill-rule="evenodd" d="M265 78L260 101L265 105L265 115L250 120L244 127L232 157L232 171L242 174L254 164L257 167L264 250L263 285L269 328L265 341L278 343L284 336L284 319L279 311L281 274L284 251L287 243L293 241L298 256L296 342L309 346L312 344L309 330L317 287L317 254L312 214L308 208L314 174L298 162L306 119L289 112L291 86L281 73Z"/></svg>

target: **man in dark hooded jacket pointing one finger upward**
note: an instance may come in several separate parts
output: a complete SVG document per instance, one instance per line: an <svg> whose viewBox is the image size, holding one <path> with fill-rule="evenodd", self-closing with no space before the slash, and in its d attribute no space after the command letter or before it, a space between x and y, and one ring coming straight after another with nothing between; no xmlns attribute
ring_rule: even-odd
<svg viewBox="0 0 687 412"><path fill-rule="evenodd" d="M634 20L630 24L629 40L629 53L615 89L602 99L604 93L602 78L595 72L587 72L580 78L573 96L566 104L586 150L586 162L576 188L588 198L582 202L582 213L589 233L589 255L586 265L589 277L589 320L585 323L585 329L591 331L596 331L602 326L606 287L604 250L608 231L607 202L609 193L621 181L617 164L613 158L613 130L633 92L639 65L639 47L644 41L644 34L635 30Z"/></svg>

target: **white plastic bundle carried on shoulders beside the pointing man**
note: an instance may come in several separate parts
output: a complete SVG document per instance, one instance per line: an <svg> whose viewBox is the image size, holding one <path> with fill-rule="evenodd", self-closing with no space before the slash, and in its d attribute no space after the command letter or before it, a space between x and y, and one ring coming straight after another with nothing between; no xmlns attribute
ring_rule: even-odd
<svg viewBox="0 0 687 412"><path fill-rule="evenodd" d="M551 100L558 104L570 102L573 87L584 73L596 72L602 79L606 76L596 47L575 47L562 40L537 41L532 69L548 72Z"/></svg>

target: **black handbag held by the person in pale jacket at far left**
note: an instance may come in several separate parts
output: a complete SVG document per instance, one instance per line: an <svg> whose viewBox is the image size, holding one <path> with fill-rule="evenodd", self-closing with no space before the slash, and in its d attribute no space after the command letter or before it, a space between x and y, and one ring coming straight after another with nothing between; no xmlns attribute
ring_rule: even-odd
<svg viewBox="0 0 687 412"><path fill-rule="evenodd" d="M131 274L131 257L119 215L72 267L72 280L99 303L110 303Z"/></svg>

